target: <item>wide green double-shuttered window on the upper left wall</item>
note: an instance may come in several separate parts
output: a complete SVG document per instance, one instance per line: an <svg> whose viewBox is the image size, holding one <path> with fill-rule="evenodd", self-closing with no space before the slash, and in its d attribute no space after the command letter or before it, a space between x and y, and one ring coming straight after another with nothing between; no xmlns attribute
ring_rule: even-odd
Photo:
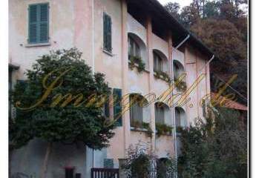
<svg viewBox="0 0 256 178"><path fill-rule="evenodd" d="M49 4L30 4L28 8L28 43L49 41Z"/></svg>

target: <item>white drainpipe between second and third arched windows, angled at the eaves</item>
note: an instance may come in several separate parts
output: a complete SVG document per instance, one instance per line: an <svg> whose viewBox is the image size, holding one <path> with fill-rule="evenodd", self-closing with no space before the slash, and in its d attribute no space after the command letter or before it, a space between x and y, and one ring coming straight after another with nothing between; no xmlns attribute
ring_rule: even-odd
<svg viewBox="0 0 256 178"><path fill-rule="evenodd" d="M175 50L177 50L182 44L184 44L188 39L189 39L190 35L188 34L188 36L186 36L185 39L183 39L182 42L180 42L180 44L177 45L177 47L175 47ZM172 81L172 85L174 86L174 62L172 59L172 55L171 55L171 81ZM174 90L171 90L171 96L174 96ZM177 156L177 137L176 137L176 118L175 118L175 109L174 107L171 107L172 110L172 118L174 118L174 129L173 129L173 138L174 138L174 154L175 154L175 161L176 161L176 169L177 169L177 160L178 160L178 156ZM175 173L175 178L177 178L177 171Z"/></svg>

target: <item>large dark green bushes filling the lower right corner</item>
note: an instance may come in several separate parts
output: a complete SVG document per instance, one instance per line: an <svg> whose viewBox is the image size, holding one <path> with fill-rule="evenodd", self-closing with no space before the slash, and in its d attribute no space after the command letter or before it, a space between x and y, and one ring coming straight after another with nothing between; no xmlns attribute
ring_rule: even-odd
<svg viewBox="0 0 256 178"><path fill-rule="evenodd" d="M238 118L237 111L218 108L214 119L181 131L180 177L246 177L247 138Z"/></svg>

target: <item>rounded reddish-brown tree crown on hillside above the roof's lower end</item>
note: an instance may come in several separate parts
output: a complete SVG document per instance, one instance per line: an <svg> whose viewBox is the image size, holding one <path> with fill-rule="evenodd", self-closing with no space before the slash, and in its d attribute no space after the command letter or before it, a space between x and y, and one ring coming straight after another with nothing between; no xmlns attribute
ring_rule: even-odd
<svg viewBox="0 0 256 178"><path fill-rule="evenodd" d="M211 47L223 63L234 65L240 59L246 59L242 35L231 22L206 19L194 24L191 31ZM223 67L228 69L228 66Z"/></svg>

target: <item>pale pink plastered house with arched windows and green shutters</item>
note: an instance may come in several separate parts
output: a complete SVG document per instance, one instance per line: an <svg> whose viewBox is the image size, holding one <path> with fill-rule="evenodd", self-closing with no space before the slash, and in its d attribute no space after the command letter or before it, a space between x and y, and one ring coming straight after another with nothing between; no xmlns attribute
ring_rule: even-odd
<svg viewBox="0 0 256 178"><path fill-rule="evenodd" d="M104 168L106 162L119 168L130 145L148 142L158 157L174 156L176 134L157 136L156 124L186 127L203 118L201 99L210 93L209 60L212 53L172 18L155 0L10 0L10 58L11 85L24 80L38 56L50 50L77 47L95 72L105 73L113 92L129 99L136 96L150 102L146 96L157 97L168 90L168 77L183 79L190 88L201 74L203 79L189 93L183 106L153 102L147 107L134 105L119 120L110 146L101 151L89 148L62 148L55 145L47 169L47 177L63 177L65 166L76 167L82 177L90 177L91 168ZM140 71L140 64L144 64ZM165 74L164 74L165 73ZM168 94L182 96L175 88ZM109 114L114 117L114 107ZM153 131L148 136L138 123L148 123ZM179 145L179 144L177 144ZM77 151L78 149L78 151ZM12 156L12 172L39 177L45 154L45 142L33 140Z"/></svg>

